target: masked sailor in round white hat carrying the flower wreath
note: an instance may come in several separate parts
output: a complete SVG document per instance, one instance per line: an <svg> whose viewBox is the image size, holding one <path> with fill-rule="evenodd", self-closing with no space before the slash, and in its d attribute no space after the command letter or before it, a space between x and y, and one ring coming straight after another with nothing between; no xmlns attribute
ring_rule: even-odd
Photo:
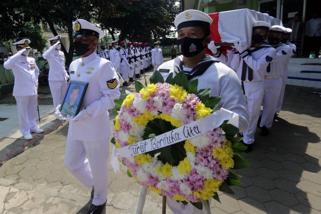
<svg viewBox="0 0 321 214"><path fill-rule="evenodd" d="M198 90L211 88L210 96L221 96L219 108L239 114L239 129L245 131L248 128L248 112L237 75L223 63L205 54L205 47L211 42L211 23L212 19L201 11L187 10L179 14L174 24L178 29L177 45L182 56L165 62L159 66L159 71L165 80L170 73L175 76L185 72L189 81L198 79ZM195 49L190 51L190 46ZM167 203L175 214L204 213L191 203L184 205L169 197Z"/></svg>

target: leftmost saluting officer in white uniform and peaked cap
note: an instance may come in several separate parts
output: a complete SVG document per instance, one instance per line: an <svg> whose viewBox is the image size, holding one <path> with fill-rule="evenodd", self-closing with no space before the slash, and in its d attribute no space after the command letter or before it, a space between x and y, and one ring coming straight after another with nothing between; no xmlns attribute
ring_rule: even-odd
<svg viewBox="0 0 321 214"><path fill-rule="evenodd" d="M32 139L31 133L44 131L36 122L39 69L35 59L28 57L29 43L28 39L13 43L18 52L4 63L5 69L11 69L15 76L13 96L17 101L20 132L26 140Z"/></svg>

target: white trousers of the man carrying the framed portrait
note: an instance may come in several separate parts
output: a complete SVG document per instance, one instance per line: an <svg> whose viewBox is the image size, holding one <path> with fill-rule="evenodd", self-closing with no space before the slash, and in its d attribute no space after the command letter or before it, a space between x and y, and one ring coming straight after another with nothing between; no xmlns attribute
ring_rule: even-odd
<svg viewBox="0 0 321 214"><path fill-rule="evenodd" d="M92 203L95 205L107 200L108 157L109 139L88 142L73 140L68 135L65 165L84 185L94 186Z"/></svg>

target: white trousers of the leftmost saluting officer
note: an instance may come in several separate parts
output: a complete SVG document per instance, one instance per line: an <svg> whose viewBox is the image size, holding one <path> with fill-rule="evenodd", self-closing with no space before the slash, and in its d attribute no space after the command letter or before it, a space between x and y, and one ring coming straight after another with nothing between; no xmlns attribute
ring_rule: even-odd
<svg viewBox="0 0 321 214"><path fill-rule="evenodd" d="M15 96L18 108L20 132L26 136L38 129L37 127L37 100L38 95Z"/></svg>

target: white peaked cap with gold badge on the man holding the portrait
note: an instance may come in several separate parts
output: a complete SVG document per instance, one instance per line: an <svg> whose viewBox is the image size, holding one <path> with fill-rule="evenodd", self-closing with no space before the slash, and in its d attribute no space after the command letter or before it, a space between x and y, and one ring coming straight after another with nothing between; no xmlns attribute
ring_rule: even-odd
<svg viewBox="0 0 321 214"><path fill-rule="evenodd" d="M76 20L72 24L72 28L74 30L75 38L85 37L85 36L96 36L98 38L103 38L105 36L104 32L99 28L95 27L91 23L87 22L86 20Z"/></svg>

